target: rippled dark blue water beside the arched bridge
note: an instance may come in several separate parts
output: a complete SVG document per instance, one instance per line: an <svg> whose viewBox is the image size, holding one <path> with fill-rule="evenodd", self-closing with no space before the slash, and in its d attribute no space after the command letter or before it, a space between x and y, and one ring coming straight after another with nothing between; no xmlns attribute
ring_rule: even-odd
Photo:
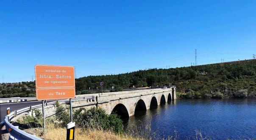
<svg viewBox="0 0 256 140"><path fill-rule="evenodd" d="M256 138L256 99L178 99L137 111L125 125L144 131L150 126L153 139L192 140L200 131L218 140Z"/></svg>

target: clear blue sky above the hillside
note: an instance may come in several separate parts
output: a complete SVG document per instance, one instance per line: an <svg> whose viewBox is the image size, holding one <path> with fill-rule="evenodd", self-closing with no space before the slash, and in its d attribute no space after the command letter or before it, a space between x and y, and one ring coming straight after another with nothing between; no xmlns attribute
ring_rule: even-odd
<svg viewBox="0 0 256 140"><path fill-rule="evenodd" d="M251 59L255 0L2 0L0 82L35 64L76 77Z"/></svg>

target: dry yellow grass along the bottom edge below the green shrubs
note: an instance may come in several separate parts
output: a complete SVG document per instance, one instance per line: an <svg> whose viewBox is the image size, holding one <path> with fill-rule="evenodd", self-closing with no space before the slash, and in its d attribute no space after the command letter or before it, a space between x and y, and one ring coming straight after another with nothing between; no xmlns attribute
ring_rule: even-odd
<svg viewBox="0 0 256 140"><path fill-rule="evenodd" d="M66 140L67 129L47 125L47 132L41 138L45 140ZM75 140L138 140L130 136L116 135L113 132L100 130L81 130L75 128Z"/></svg>

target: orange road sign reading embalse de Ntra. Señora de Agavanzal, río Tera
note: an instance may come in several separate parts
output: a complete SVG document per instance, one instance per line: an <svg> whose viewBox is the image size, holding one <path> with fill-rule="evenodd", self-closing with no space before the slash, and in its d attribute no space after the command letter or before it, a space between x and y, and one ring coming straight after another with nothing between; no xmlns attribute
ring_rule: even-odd
<svg viewBox="0 0 256 140"><path fill-rule="evenodd" d="M35 65L36 99L75 98L75 69L72 66Z"/></svg>

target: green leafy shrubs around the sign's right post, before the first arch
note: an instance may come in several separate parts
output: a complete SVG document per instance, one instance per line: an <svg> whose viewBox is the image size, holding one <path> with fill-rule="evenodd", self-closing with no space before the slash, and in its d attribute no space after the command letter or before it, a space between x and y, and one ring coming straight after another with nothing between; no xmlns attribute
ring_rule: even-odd
<svg viewBox="0 0 256 140"><path fill-rule="evenodd" d="M56 118L60 126L65 127L70 122L70 113L67 107L56 103ZM116 115L106 114L101 108L86 110L80 108L73 112L73 121L76 126L87 129L110 130L118 134L123 134L122 120Z"/></svg>

